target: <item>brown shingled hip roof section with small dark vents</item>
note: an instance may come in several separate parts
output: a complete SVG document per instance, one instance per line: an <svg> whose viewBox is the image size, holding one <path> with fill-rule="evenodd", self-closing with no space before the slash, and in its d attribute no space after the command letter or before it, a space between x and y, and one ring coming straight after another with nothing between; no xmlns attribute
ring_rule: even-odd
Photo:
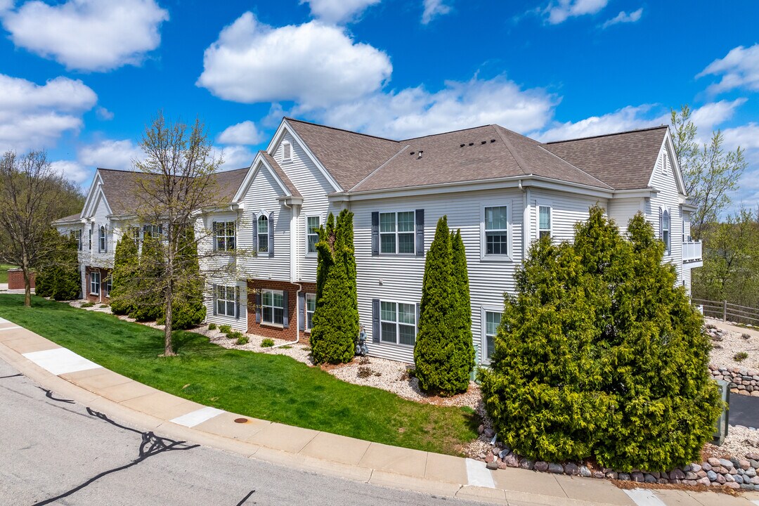
<svg viewBox="0 0 759 506"><path fill-rule="evenodd" d="M487 181L528 174L610 189L546 151L537 141L498 125L402 140L401 145L402 152L351 191Z"/></svg>

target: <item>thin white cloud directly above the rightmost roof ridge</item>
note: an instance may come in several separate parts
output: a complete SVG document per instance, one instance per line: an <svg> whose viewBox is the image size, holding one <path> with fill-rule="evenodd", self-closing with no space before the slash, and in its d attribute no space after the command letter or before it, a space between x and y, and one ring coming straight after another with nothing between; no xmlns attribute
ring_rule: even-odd
<svg viewBox="0 0 759 506"><path fill-rule="evenodd" d="M531 137L548 142L613 134L637 128L656 127L661 124L669 124L668 112L657 115L656 112L653 112L652 105L628 105L606 115L591 116L581 121L556 123Z"/></svg>

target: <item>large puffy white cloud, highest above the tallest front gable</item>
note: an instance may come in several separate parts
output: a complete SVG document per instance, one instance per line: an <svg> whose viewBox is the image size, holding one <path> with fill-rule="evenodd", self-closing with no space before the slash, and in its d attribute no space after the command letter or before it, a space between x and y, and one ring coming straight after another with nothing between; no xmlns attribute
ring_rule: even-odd
<svg viewBox="0 0 759 506"><path fill-rule="evenodd" d="M385 52L318 21L272 28L246 12L203 55L197 80L235 102L327 107L379 90L392 73Z"/></svg>

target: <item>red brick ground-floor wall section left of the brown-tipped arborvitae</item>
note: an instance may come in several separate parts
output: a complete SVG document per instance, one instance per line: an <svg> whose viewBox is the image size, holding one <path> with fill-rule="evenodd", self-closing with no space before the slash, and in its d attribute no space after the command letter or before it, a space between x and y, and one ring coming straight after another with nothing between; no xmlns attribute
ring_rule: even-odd
<svg viewBox="0 0 759 506"><path fill-rule="evenodd" d="M301 283L304 294L313 294L317 291L316 283ZM288 293L288 328L256 323L256 291L269 288ZM272 279L248 279L247 280L247 332L263 335L266 338L286 339L294 341L298 335L298 284L288 281L275 281ZM308 344L309 335L301 332L300 342Z"/></svg>

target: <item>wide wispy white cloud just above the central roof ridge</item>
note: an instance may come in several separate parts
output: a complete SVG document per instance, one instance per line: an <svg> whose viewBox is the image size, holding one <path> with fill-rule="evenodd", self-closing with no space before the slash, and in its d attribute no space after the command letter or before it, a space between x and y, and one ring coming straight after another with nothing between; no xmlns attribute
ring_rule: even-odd
<svg viewBox="0 0 759 506"><path fill-rule="evenodd" d="M550 121L554 105L556 98L544 90L522 90L505 77L474 78L449 81L436 93L421 86L376 93L318 116L349 130L404 139L493 123L520 132L537 130Z"/></svg>

